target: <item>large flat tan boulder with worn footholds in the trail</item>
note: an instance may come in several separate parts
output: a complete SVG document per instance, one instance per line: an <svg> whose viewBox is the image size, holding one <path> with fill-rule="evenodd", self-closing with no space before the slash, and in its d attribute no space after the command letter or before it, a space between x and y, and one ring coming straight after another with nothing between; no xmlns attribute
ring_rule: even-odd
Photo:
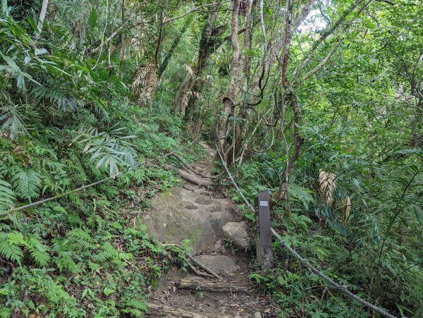
<svg viewBox="0 0 423 318"><path fill-rule="evenodd" d="M190 240L192 254L206 249L223 236L222 227L234 219L235 204L185 188L173 188L152 201L142 218L147 233L167 243Z"/></svg>

